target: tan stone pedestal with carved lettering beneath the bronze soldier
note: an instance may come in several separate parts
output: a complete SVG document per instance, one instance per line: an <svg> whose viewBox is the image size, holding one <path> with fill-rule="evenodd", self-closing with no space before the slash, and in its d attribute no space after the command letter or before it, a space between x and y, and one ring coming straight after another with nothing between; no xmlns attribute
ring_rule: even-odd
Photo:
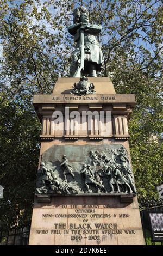
<svg viewBox="0 0 163 256"><path fill-rule="evenodd" d="M79 78L59 78L51 95L34 95L33 103L42 122L39 170L44 162L55 178L64 180L60 163L65 154L75 182L72 175L66 175L70 194L57 190L35 195L29 244L143 245L136 194L111 193L110 188L98 192L93 186L87 193L81 172L83 163L92 163L91 151L110 159L115 153L115 161L121 166L116 152L126 149L131 165L128 121L135 97L116 94L105 77L89 78L96 94L72 95L71 87L78 81ZM62 113L62 119L55 123L57 113ZM100 113L104 113L103 119L99 119ZM82 119L84 115L86 118ZM105 172L102 176L99 182L106 188L108 178Z"/></svg>

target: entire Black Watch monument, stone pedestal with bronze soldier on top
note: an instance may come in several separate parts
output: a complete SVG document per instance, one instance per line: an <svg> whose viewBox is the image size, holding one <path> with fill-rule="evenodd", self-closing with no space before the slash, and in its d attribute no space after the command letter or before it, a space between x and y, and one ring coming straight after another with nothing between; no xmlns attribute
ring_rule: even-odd
<svg viewBox="0 0 163 256"><path fill-rule="evenodd" d="M133 94L116 94L84 7L74 10L70 77L34 95L42 123L29 245L143 245L129 151Z"/></svg>

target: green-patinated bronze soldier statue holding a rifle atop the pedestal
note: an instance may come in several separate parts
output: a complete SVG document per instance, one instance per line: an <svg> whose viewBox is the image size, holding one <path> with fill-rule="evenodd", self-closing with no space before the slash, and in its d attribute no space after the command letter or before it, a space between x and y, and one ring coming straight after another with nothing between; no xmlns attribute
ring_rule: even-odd
<svg viewBox="0 0 163 256"><path fill-rule="evenodd" d="M68 32L74 36L76 49L72 54L70 77L97 77L96 71L102 70L103 53L96 39L101 32L101 25L89 23L89 13L85 7L74 10L74 25L68 27Z"/></svg>

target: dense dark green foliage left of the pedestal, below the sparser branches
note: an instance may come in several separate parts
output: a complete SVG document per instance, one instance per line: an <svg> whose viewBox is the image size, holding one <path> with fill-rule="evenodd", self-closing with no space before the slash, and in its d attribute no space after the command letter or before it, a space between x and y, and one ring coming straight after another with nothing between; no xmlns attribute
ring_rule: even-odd
<svg viewBox="0 0 163 256"><path fill-rule="evenodd" d="M30 97L0 95L1 227L28 225L34 198L39 160L40 122L29 103Z"/></svg>

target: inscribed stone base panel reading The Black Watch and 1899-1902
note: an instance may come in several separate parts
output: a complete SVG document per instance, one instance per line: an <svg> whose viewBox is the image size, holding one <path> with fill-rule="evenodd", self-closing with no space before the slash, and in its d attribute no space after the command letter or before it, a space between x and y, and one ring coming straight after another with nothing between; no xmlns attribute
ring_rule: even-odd
<svg viewBox="0 0 163 256"><path fill-rule="evenodd" d="M30 245L140 245L139 209L53 205L33 211Z"/></svg>

